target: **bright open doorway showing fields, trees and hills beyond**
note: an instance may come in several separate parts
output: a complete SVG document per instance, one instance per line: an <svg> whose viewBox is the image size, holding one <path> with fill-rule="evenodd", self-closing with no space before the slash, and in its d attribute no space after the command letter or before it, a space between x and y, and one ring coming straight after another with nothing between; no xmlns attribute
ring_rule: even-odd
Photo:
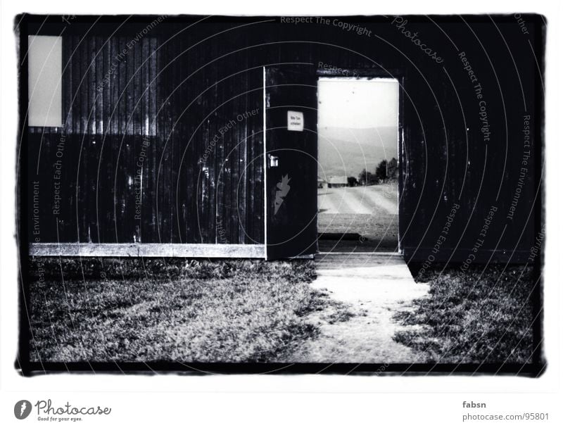
<svg viewBox="0 0 563 428"><path fill-rule="evenodd" d="M319 250L398 251L399 83L320 77Z"/></svg>

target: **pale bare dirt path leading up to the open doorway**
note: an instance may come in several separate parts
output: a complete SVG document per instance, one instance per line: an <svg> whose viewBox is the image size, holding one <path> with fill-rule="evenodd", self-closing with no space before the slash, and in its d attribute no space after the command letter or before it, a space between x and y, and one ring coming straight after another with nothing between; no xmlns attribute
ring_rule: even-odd
<svg viewBox="0 0 563 428"><path fill-rule="evenodd" d="M350 320L330 323L330 314L315 313L310 320L321 334L303 346L296 362L308 363L422 363L421 355L393 341L400 327L393 313L410 308L424 296L427 284L417 284L400 256L341 254L317 256L318 277L312 283L327 289L331 298L349 303Z"/></svg>

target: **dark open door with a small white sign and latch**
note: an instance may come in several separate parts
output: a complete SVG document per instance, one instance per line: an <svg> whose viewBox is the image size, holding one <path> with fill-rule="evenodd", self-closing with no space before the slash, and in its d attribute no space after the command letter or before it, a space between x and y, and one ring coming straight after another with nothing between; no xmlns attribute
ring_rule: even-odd
<svg viewBox="0 0 563 428"><path fill-rule="evenodd" d="M317 251L317 73L265 68L266 258Z"/></svg>

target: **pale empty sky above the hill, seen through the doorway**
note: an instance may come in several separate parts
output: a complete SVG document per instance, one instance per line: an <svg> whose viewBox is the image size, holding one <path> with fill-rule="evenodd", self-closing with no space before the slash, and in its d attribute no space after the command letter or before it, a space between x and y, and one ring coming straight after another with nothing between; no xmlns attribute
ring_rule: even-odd
<svg viewBox="0 0 563 428"><path fill-rule="evenodd" d="M319 79L319 128L397 126L398 81Z"/></svg>

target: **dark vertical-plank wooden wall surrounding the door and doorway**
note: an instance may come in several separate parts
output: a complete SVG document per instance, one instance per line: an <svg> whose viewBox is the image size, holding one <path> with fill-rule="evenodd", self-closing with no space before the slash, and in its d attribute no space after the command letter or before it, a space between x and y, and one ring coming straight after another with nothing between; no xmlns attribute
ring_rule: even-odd
<svg viewBox="0 0 563 428"><path fill-rule="evenodd" d="M28 18L29 34L61 32L60 23L43 23L43 18ZM371 30L369 36L316 21L293 25L279 18L168 17L134 46L96 99L93 88L114 51L153 19L123 24L125 17L115 17L92 25L96 17L85 17L65 26L68 142L58 240L262 242L261 68L322 62L379 68L403 78L400 234L407 258L465 260L491 206L497 212L479 260L522 261L529 256L541 227L540 17L524 15L529 34L512 15L404 17L407 29L418 32L443 63L391 25L393 17L338 18ZM482 85L488 141L481 131L481 100L460 52ZM96 54L103 64L92 63ZM254 109L259 113L236 120L237 114ZM520 186L524 115L531 116L532 144ZM142 220L137 222L129 180L147 133L145 120L151 124L150 156L144 164ZM232 130L203 160L205 146L230 120L236 122ZM27 182L41 183L40 221L46 225L55 222L49 177L60 132L30 130L27 146ZM460 206L455 220L433 253L455 204ZM55 232L51 226L42 228L42 241L56 241Z"/></svg>

